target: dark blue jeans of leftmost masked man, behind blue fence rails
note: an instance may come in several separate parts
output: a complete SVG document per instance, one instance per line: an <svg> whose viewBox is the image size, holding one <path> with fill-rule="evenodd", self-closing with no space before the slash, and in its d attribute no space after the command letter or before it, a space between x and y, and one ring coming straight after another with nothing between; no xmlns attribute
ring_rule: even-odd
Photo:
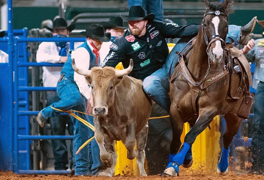
<svg viewBox="0 0 264 180"><path fill-rule="evenodd" d="M59 101L60 98L54 91L47 92L47 105L51 105L54 102ZM49 118L51 125L51 135L65 135L66 128L70 135L73 135L73 123L69 116L51 116ZM68 124L68 126L66 126ZM53 156L55 159L54 168L55 170L65 170L68 169L66 166L68 164L68 151L65 140L51 140L51 146L53 151ZM71 162L70 168L74 165L73 163L73 145L71 141L70 145ZM74 168L74 167L73 167Z"/></svg>

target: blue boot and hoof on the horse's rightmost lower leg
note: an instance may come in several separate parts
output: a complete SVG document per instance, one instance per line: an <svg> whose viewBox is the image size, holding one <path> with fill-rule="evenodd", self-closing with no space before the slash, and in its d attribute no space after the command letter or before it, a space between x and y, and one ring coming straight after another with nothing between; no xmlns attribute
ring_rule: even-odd
<svg viewBox="0 0 264 180"><path fill-rule="evenodd" d="M221 157L217 164L217 174L219 175L225 176L228 174L228 166L229 166L228 153L229 153L229 148L228 149L222 148Z"/></svg>

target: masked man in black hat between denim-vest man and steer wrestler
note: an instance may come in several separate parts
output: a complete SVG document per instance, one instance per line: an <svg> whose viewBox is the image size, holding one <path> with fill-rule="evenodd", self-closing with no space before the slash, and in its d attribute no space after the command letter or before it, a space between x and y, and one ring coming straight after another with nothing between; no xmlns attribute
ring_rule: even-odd
<svg viewBox="0 0 264 180"><path fill-rule="evenodd" d="M123 36L124 29L127 29L127 27L124 26L124 21L120 16L111 17L108 22L101 22L100 24L106 29L105 32L111 33L110 42L103 42L100 50L100 53L102 54L101 57L105 58L110 50L110 47L115 46L115 44L113 44L115 39Z"/></svg>

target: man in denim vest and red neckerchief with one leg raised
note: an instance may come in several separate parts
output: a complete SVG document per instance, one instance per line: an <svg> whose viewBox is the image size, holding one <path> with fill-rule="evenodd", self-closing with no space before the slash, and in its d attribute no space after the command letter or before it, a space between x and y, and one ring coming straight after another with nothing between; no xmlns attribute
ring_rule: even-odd
<svg viewBox="0 0 264 180"><path fill-rule="evenodd" d="M60 110L77 110L90 113L90 88L85 82L85 76L77 74L71 65L72 58L76 65L83 69L91 69L98 65L100 61L99 50L102 42L110 41L110 33L105 33L104 28L99 24L91 24L85 31L81 32L86 36L86 41L68 56L67 62L63 65L60 72L60 79L57 84L57 94L60 101L51 104L52 107ZM87 105L87 106L86 106ZM46 120L61 112L48 106L38 113L38 124L43 127ZM86 108L87 107L87 108ZM93 124L92 116L85 116L82 113L75 113L89 123ZM74 124L73 153L83 145L89 138L94 136L92 130L79 120L71 117ZM97 143L91 142L75 155L75 175L97 175L102 169L99 161L99 148Z"/></svg>

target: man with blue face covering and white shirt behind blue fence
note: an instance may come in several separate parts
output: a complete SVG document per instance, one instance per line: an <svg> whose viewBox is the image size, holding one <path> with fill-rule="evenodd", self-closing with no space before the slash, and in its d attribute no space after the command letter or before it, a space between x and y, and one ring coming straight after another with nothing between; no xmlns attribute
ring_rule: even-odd
<svg viewBox="0 0 264 180"><path fill-rule="evenodd" d="M53 28L46 27L52 32L53 37L65 38L75 28L75 24L67 25L63 18L57 18L53 22ZM69 54L68 42L42 42L38 46L36 54L37 62L59 63L66 62ZM60 78L60 71L62 67L42 67L43 68L43 86L56 87L58 79ZM56 91L47 91L47 105L59 101L60 98ZM49 118L51 125L51 135L65 135L66 128L70 135L73 135L73 123L68 116L52 116ZM66 125L68 124L68 126ZM55 170L68 169L68 151L65 140L51 141L53 156L55 159ZM72 147L71 147L72 149ZM73 153L70 153L73 158ZM70 162L70 168L74 169L74 159Z"/></svg>

